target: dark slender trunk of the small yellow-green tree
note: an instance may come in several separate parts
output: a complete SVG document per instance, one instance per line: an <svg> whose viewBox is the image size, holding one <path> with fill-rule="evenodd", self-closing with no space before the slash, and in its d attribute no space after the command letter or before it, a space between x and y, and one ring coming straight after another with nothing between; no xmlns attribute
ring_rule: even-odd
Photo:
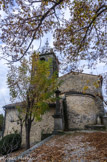
<svg viewBox="0 0 107 162"><path fill-rule="evenodd" d="M31 129L32 121L28 119L25 122L25 129L26 129L26 150L30 148L30 129Z"/></svg>

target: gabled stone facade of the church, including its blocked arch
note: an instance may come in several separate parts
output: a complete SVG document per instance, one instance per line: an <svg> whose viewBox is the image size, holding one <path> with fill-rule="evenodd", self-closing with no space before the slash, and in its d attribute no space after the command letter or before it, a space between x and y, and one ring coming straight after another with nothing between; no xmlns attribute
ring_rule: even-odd
<svg viewBox="0 0 107 162"><path fill-rule="evenodd" d="M85 125L96 124L97 115L104 111L102 100L96 96L102 96L100 77L70 73L60 77L60 80L62 85L59 89L66 98L68 128L84 129Z"/></svg>

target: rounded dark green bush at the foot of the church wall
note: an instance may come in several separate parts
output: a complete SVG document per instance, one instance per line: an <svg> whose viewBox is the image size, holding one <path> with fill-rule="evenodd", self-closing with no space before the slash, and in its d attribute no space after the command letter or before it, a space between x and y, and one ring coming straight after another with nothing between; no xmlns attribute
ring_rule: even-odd
<svg viewBox="0 0 107 162"><path fill-rule="evenodd" d="M6 155L16 151L21 146L21 136L19 134L9 134L0 141L0 154Z"/></svg>

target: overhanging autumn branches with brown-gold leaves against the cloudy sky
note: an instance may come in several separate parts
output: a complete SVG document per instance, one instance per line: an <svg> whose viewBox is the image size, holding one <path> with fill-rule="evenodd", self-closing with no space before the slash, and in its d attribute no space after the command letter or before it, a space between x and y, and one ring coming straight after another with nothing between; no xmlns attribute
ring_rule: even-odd
<svg viewBox="0 0 107 162"><path fill-rule="evenodd" d="M69 62L106 59L105 0L0 0L3 57L18 61L49 31ZM68 13L68 15L67 15Z"/></svg>

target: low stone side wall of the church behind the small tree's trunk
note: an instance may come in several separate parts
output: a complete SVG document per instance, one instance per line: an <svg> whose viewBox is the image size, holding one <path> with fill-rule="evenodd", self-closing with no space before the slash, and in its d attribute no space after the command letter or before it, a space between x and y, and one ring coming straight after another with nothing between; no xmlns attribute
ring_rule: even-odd
<svg viewBox="0 0 107 162"><path fill-rule="evenodd" d="M45 133L52 133L54 128L54 114L55 108L50 108L43 116L41 121L34 121L31 127L30 140L31 144L41 141L41 135ZM5 132L4 136L10 133L14 133L16 130L20 133L20 124L18 120L18 111L17 109L6 109L6 118L5 118ZM14 122L11 121L11 117L14 119ZM25 145L25 127L22 129L22 145Z"/></svg>

